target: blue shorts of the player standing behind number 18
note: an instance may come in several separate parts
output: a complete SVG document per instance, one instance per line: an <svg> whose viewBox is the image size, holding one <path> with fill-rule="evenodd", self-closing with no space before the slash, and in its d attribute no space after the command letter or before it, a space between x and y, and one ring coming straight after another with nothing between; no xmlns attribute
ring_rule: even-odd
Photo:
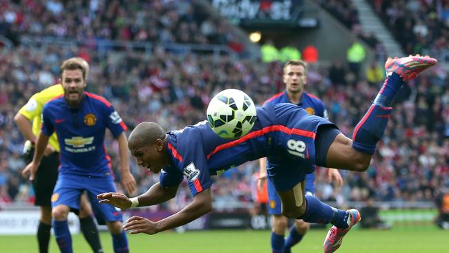
<svg viewBox="0 0 449 253"><path fill-rule="evenodd" d="M281 215L281 201L274 188L271 180L267 180L268 189L268 214L269 215ZM307 174L305 177L305 195L315 195L315 174Z"/></svg>

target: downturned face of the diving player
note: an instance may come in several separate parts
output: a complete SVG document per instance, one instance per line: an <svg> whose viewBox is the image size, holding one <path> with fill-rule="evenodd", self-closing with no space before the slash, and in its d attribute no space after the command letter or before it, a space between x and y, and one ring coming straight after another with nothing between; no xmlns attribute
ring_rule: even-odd
<svg viewBox="0 0 449 253"><path fill-rule="evenodd" d="M158 139L160 140L160 139ZM163 154L163 142L162 144L156 141L155 144L152 145L144 145L142 147L133 147L130 144L131 154L135 157L137 161L137 165L145 167L149 171L154 173L159 173L164 164L164 156Z"/></svg>

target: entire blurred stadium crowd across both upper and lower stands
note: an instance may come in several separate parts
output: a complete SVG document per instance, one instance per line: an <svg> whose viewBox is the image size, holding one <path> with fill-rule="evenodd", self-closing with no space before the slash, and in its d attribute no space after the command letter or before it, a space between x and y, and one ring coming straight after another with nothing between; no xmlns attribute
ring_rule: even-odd
<svg viewBox="0 0 449 253"><path fill-rule="evenodd" d="M102 39L229 43L231 31L227 25L195 13L191 1L177 1L181 3L176 5L173 2L134 0L124 4L125 1L119 0L94 0L62 4L59 0L45 3L0 1L0 31L10 32L3 34L93 39L93 45ZM392 6L397 6L397 1L393 2ZM342 4L343 7L350 4L348 1L331 3L334 6L329 5L330 12L341 9ZM347 7L347 13L338 13L346 13L341 18L347 19L344 23L352 27L358 24L358 19L352 15L353 8ZM160 11L150 12L150 8ZM423 15L416 16L417 19L420 17L424 24L428 24ZM435 37L432 41L446 43L447 30L435 36L442 36L442 39ZM409 43L419 41L418 37L411 37ZM439 42L433 46L437 45ZM414 50L415 46L410 49ZM174 55L161 46L155 46L150 57L133 50L102 57L95 46L71 47L70 50L48 46L35 50L17 45L15 50L0 55L0 204L32 203L32 187L21 177L25 167L21 158L23 137L13 118L33 93L58 82L59 64L73 56L84 57L90 63L87 90L106 97L130 129L144 120L158 122L166 129L179 129L205 120L204 112L211 96L225 88L245 91L256 104L262 104L284 89L280 62L262 64L227 55ZM356 79L356 75L341 62L312 65L306 90L323 100L330 120L351 136L356 122L363 116L361 113L367 110L383 82L381 64L373 63L360 79ZM318 169L317 196L340 202L368 199L431 201L436 189L443 185L449 187L448 81L446 71L437 66L403 88L397 98L401 103L394 106L386 138L379 144L367 173L341 171L345 184L334 189L324 180L325 170ZM118 182L118 145L111 135L106 138L106 145L111 151ZM134 161L131 170L139 193L158 181L156 176L137 167ZM251 180L257 170L256 162L248 162L217 177L212 186L215 207L251 202ZM190 198L187 185L180 191L181 194L163 208L184 206Z"/></svg>

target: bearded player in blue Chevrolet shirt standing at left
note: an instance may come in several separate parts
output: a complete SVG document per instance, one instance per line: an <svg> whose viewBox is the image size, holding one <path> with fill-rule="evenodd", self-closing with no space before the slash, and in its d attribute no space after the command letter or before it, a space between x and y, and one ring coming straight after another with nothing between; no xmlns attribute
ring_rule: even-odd
<svg viewBox="0 0 449 253"><path fill-rule="evenodd" d="M61 252L72 252L67 216L79 210L79 198L87 191L94 209L99 210L113 236L115 252L128 252L128 241L122 228L122 212L99 205L95 196L104 191L116 191L111 158L104 147L106 128L119 144L121 179L126 191L135 190L130 173L126 126L120 115L103 97L84 92L86 68L73 59L61 65L64 95L47 102L42 110L42 127L37 137L35 155L26 167L33 178L44 154L48 139L57 133L61 147L59 177L52 195L52 226Z"/></svg>

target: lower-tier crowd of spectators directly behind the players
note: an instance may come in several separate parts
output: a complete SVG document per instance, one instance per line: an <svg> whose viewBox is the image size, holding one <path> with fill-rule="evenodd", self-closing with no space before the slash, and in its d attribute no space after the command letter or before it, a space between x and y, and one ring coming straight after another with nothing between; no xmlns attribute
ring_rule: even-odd
<svg viewBox="0 0 449 253"><path fill-rule="evenodd" d="M71 53L77 55L77 50ZM172 55L162 48L149 59L140 53L100 59L90 51L88 91L112 102L131 129L139 122L159 122L166 129L180 128L204 120L211 95L224 88L249 93L256 104L282 91L282 64L260 64L231 57ZM23 138L12 120L30 95L48 84L55 84L58 63L70 57L61 48L45 52L17 48L0 56L0 202L32 200L32 189L20 176ZM26 64L23 64L26 63ZM355 79L344 65L315 65L309 68L307 90L323 99L330 119L346 135L363 116L380 82ZM404 88L394 109L386 138L379 145L367 174L342 171L345 186L336 191L325 183L323 169L318 175L318 196L324 200L432 200L435 189L449 185L449 89L448 79L439 67L424 73ZM381 80L383 77L379 77ZM379 81L379 80L378 80ZM117 165L117 143L107 138L113 165ZM117 166L115 167L116 178ZM217 203L251 201L254 162L231 169L213 185ZM133 174L144 192L157 182L133 162ZM178 196L182 205L189 198L187 188ZM180 198L184 198L180 199Z"/></svg>

